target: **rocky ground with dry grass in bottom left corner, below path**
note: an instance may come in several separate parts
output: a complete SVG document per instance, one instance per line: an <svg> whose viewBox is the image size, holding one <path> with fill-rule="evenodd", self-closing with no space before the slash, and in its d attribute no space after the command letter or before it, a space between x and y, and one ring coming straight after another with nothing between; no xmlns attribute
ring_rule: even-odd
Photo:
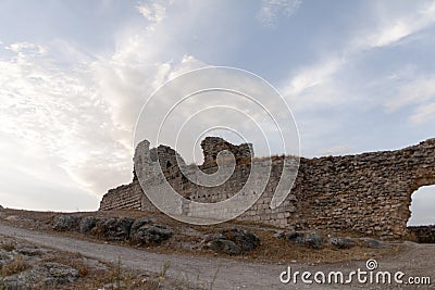
<svg viewBox="0 0 435 290"><path fill-rule="evenodd" d="M96 275L109 273L104 263L71 252L61 252L30 241L1 236L0 289L85 289ZM87 287L86 289L88 289ZM90 287L89 289L92 289ZM97 286L94 287L97 289Z"/></svg>

